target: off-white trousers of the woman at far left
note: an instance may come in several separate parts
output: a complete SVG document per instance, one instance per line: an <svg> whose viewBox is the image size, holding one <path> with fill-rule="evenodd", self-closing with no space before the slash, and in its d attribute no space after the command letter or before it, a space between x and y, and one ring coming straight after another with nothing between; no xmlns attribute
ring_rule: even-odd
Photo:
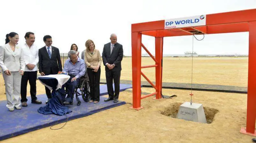
<svg viewBox="0 0 256 143"><path fill-rule="evenodd" d="M7 99L7 108L18 107L21 105L20 102L20 84L21 84L21 75L18 71L11 71L11 75L8 76L3 73L5 90L6 90L6 99Z"/></svg>

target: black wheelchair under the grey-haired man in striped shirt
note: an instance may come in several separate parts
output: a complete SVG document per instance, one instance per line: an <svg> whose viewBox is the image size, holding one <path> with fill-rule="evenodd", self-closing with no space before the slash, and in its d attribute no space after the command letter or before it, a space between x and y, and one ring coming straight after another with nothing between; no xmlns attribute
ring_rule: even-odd
<svg viewBox="0 0 256 143"><path fill-rule="evenodd" d="M80 92L78 92L77 90L80 90ZM68 94L68 89L65 88L65 95ZM72 98L72 103L70 103L69 105L73 105L73 100L74 100L74 95L76 95L76 100L77 100L77 106L81 105L81 101L79 99L78 96L82 96L84 102L89 102L90 101L90 82L89 82L89 77L87 74L87 71L85 72L85 75L80 77L80 82L78 83L78 85L75 87L74 89L74 94L73 94L73 98Z"/></svg>

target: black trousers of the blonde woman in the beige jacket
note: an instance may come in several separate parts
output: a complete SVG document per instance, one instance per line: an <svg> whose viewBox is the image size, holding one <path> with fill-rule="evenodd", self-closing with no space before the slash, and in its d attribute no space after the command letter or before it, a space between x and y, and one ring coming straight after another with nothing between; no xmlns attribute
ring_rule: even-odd
<svg viewBox="0 0 256 143"><path fill-rule="evenodd" d="M91 100L99 101L99 79L100 79L100 67L97 72L92 71L93 69L87 68L88 77L90 80L90 92Z"/></svg>

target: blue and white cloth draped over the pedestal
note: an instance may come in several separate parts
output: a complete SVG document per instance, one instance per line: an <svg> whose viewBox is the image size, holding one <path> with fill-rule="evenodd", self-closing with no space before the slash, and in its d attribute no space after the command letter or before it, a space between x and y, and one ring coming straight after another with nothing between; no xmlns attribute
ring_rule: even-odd
<svg viewBox="0 0 256 143"><path fill-rule="evenodd" d="M56 75L56 78L58 78L58 75ZM46 106L40 107L37 110L39 113L42 113L45 115L56 114L56 115L62 116L72 112L71 110L69 110L68 107L63 105L62 96L61 96L62 92L60 88L57 87L58 84L63 85L65 84L66 81L64 83L58 83L58 80L56 78L45 77L45 76L38 77L38 79L42 84L52 88L52 98L49 99L49 102ZM56 88L58 89L56 90Z"/></svg>

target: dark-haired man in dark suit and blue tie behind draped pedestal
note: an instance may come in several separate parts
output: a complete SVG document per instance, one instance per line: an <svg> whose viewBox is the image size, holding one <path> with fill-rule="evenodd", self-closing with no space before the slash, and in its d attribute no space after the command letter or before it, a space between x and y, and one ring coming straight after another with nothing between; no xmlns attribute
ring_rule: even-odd
<svg viewBox="0 0 256 143"><path fill-rule="evenodd" d="M62 71L61 56L58 48L52 46L52 37L46 35L43 38L45 46L38 51L39 72L42 76L49 74L58 74ZM48 97L46 104L52 97L51 91L45 86L45 92Z"/></svg>

